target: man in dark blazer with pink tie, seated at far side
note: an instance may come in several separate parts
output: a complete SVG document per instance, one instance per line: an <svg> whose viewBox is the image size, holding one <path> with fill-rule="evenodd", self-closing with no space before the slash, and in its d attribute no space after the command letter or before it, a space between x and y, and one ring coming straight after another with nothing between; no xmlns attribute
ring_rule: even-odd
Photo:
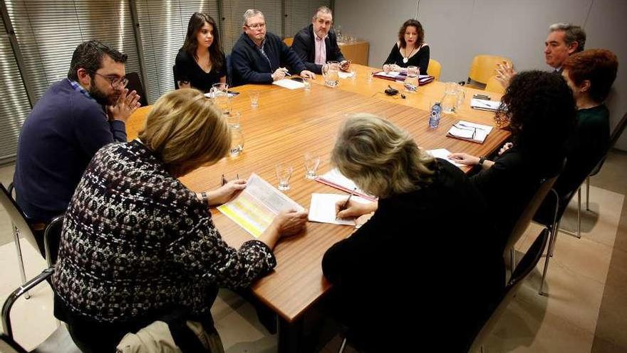
<svg viewBox="0 0 627 353"><path fill-rule="evenodd" d="M327 61L338 61L341 68L347 68L348 62L342 55L331 26L333 26L331 9L321 6L316 10L311 24L294 36L291 48L305 63L307 70L321 73L322 65Z"/></svg>

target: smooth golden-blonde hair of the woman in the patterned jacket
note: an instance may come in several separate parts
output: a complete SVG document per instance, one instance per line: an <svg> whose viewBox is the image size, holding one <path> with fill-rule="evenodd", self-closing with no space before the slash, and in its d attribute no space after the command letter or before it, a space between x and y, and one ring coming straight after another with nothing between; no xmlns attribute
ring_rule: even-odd
<svg viewBox="0 0 627 353"><path fill-rule="evenodd" d="M139 138L175 176L217 162L231 145L229 126L221 111L192 88L159 98Z"/></svg>

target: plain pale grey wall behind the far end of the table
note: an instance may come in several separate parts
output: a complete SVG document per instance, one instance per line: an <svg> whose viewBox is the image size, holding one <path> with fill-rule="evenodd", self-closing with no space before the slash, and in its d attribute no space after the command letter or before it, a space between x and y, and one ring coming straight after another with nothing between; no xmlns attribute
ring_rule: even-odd
<svg viewBox="0 0 627 353"><path fill-rule="evenodd" d="M376 67L417 9L431 58L442 63L442 81L467 78L478 54L512 58L519 71L549 70L543 53L549 25L579 24L588 36L586 48L608 48L618 56L618 76L607 101L611 126L627 112L627 0L336 0L333 22L370 42L368 61ZM627 150L627 133L617 147Z"/></svg>

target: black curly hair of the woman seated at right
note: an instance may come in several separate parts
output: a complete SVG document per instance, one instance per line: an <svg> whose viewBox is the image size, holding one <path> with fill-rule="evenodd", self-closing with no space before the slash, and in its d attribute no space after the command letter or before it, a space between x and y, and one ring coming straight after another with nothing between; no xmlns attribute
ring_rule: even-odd
<svg viewBox="0 0 627 353"><path fill-rule="evenodd" d="M556 73L524 71L509 83L494 120L512 132L523 150L563 150L576 106L566 80Z"/></svg>

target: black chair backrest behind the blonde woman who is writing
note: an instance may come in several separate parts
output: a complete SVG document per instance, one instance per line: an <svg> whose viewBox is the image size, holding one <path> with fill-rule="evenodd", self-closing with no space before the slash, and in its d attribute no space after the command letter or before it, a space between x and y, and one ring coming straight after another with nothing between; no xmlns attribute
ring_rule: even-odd
<svg viewBox="0 0 627 353"><path fill-rule="evenodd" d="M543 229L529 250L524 254L522 260L516 266L516 269L512 272L512 277L507 282L503 294L501 296L501 300L499 300L499 304L494 308L491 314L489 314L488 319L483 324L477 335L475 336L474 341L468 352L483 352L482 344L487 339L494 326L496 326L499 319L502 317L505 309L509 305L509 302L512 301L512 298L518 292L520 286L524 279L531 273L534 268L538 265L540 261L540 257L542 257L542 252L544 252L544 248L546 247L547 239L549 238L549 230Z"/></svg>

